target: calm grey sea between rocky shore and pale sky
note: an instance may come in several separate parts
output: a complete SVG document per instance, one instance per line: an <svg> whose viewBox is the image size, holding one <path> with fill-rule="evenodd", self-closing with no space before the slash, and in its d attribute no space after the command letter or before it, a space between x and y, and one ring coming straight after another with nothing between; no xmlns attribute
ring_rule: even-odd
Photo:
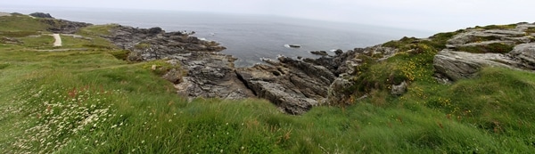
<svg viewBox="0 0 535 154"><path fill-rule="evenodd" d="M28 6L3 6L0 12L47 12L63 20L117 23L135 28L160 27L168 32L194 32L193 36L225 46L226 50L222 53L237 58L237 67L251 66L261 62L260 59L276 59L280 55L316 58L318 56L311 54L311 51L333 54L337 49L348 51L398 40L403 36L427 37L432 34L396 28L395 25L358 24L359 19L334 22L215 12ZM300 45L300 48L289 45Z"/></svg>

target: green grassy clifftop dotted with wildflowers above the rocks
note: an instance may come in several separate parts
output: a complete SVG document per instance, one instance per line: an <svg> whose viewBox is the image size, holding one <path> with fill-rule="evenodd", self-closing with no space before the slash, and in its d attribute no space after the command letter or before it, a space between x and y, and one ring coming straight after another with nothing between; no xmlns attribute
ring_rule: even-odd
<svg viewBox="0 0 535 154"><path fill-rule="evenodd" d="M291 116L264 100L178 97L148 67L160 61L119 60L123 52L100 37L114 25L53 47L39 19L0 20L2 153L535 151L535 75L488 68L453 85L432 78L432 56L455 32L385 44L402 53L358 68L365 73L350 89L367 99ZM43 51L53 49L67 50ZM408 92L389 94L382 83L391 77L409 80Z"/></svg>

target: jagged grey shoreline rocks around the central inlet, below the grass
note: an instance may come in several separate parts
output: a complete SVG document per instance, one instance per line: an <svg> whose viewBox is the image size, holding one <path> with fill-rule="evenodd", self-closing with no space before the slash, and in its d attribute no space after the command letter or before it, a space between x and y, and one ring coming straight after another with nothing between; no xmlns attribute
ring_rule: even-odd
<svg viewBox="0 0 535 154"><path fill-rule="evenodd" d="M277 60L250 68L235 68L235 58L218 53L225 49L215 42L203 41L180 32L165 32L161 28L118 26L106 36L117 46L130 51L129 61L167 60L179 63L187 71L181 79L170 79L177 93L195 98L243 99L262 98L273 102L289 114L302 114L313 106L331 104L347 97L335 88L350 84L342 77L354 72L361 60L359 53L391 56L395 49L381 45L356 48L318 59ZM169 71L169 74L175 72ZM169 75L166 75L169 76ZM342 97L342 98L340 98Z"/></svg>

